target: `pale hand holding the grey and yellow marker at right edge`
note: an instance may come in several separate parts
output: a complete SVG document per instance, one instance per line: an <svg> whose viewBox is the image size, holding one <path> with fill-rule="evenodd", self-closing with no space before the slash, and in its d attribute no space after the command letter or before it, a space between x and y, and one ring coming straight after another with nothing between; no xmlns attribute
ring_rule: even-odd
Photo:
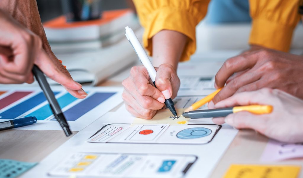
<svg viewBox="0 0 303 178"><path fill-rule="evenodd" d="M267 137L289 143L303 142L303 100L278 89L261 89L242 92L215 104L215 108L238 105L272 105L273 112L255 115L237 112L224 118L213 118L215 124L227 124L238 128L251 128Z"/></svg>

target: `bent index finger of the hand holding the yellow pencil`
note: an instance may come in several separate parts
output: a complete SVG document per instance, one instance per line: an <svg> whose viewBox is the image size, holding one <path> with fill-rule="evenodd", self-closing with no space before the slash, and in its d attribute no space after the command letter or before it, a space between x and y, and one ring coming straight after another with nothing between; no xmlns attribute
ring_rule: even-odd
<svg viewBox="0 0 303 178"><path fill-rule="evenodd" d="M215 76L215 87L223 87L227 79L234 73L253 67L256 64L257 57L256 53L249 53L226 60Z"/></svg>

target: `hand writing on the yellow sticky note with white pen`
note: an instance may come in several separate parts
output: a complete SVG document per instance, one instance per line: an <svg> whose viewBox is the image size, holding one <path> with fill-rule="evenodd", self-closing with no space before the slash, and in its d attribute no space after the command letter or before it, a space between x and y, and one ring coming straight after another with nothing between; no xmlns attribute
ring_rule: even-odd
<svg viewBox="0 0 303 178"><path fill-rule="evenodd" d="M126 109L135 117L151 119L157 110L165 106L165 99L175 98L180 79L169 64L156 68L155 88L144 66L132 67L130 76L122 82L122 99Z"/></svg>

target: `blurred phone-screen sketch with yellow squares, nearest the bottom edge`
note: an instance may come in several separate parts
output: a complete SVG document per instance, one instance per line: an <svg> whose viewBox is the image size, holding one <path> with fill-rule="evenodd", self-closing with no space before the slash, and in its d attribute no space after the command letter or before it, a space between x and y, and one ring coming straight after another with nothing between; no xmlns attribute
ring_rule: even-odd
<svg viewBox="0 0 303 178"><path fill-rule="evenodd" d="M192 155L79 152L50 171L53 176L182 177L195 163Z"/></svg>

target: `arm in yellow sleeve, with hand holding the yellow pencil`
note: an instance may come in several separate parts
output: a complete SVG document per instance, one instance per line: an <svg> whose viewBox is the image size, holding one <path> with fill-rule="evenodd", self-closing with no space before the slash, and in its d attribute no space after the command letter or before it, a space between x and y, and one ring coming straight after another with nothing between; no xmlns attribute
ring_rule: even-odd
<svg viewBox="0 0 303 178"><path fill-rule="evenodd" d="M225 84L226 86L215 96L213 102L228 98L235 92L251 91L262 87L278 88L302 97L301 92L296 90L297 87L288 84L288 80L284 77L272 81L272 76L283 75L283 72L287 72L284 74L285 76L295 76L291 71L286 71L286 68L278 65L282 62L283 57L287 58L285 60L291 61L291 56L287 57L285 53L271 50L289 50L293 30L300 18L298 15L299 1L250 0L249 2L252 17L249 38L251 49L225 61L215 76L215 87L221 88ZM254 62L252 63L252 61ZM285 65L290 68L295 67L294 70L301 73L296 66L290 65L291 63L301 65L301 61L296 63L294 61ZM299 81L298 77L295 77L294 80ZM213 107L213 104L209 106Z"/></svg>

